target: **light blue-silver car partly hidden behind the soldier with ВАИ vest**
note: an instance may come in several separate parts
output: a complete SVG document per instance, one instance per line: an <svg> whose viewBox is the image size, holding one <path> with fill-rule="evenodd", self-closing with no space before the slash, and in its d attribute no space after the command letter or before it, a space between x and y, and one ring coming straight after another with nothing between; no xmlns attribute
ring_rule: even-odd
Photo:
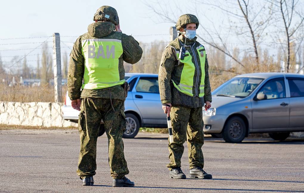
<svg viewBox="0 0 304 193"><path fill-rule="evenodd" d="M126 132L124 138L133 138L140 127L167 127L167 119L161 108L157 74L126 73L130 91L125 101ZM71 100L65 97L62 108L63 118L78 121L79 111L71 106ZM105 132L103 122L99 127L99 136Z"/></svg>

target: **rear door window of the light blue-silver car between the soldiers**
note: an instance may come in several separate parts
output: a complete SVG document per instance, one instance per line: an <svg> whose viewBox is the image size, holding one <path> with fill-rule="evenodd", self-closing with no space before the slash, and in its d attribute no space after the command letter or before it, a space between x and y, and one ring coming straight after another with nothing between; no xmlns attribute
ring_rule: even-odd
<svg viewBox="0 0 304 193"><path fill-rule="evenodd" d="M140 77L137 85L137 92L159 93L157 77Z"/></svg>

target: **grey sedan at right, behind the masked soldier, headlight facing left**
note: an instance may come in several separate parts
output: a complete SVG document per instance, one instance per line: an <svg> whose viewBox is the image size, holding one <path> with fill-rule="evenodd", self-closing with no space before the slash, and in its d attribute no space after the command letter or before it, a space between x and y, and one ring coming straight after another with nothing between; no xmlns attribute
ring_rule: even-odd
<svg viewBox="0 0 304 193"><path fill-rule="evenodd" d="M239 143L249 133L285 140L304 131L304 75L243 74L212 92L212 108L203 111L204 132Z"/></svg>

